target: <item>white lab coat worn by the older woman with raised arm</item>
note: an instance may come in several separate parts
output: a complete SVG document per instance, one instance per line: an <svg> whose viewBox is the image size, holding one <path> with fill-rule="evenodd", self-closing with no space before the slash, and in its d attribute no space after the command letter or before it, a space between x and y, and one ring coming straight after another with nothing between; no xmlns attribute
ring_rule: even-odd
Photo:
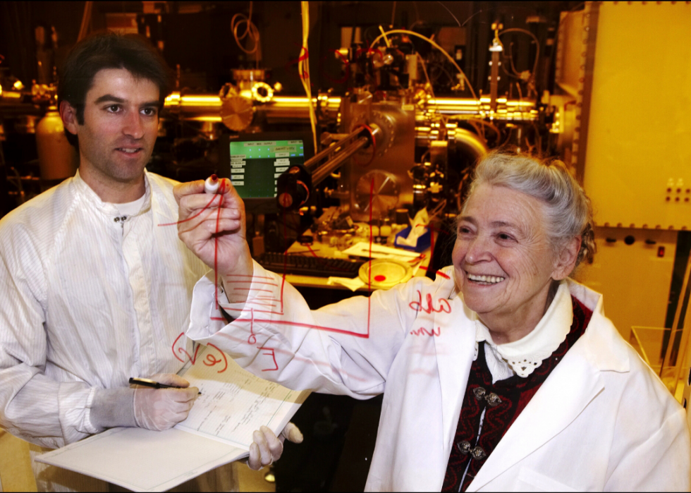
<svg viewBox="0 0 691 493"><path fill-rule="evenodd" d="M188 336L291 389L384 392L367 491L439 491L475 350L475 314L455 294L453 269L444 273L377 291L371 303L350 298L310 311L255 263L248 302L225 305L236 317L225 327L211 319L212 281L197 283ZM469 491L688 490L683 408L606 319L602 297L568 286L593 310L591 322ZM225 288L232 301L232 283Z"/></svg>

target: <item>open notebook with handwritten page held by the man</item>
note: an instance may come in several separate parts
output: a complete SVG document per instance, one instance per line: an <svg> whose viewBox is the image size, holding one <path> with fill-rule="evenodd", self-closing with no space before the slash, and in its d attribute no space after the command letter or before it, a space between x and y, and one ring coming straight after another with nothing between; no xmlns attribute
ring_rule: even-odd
<svg viewBox="0 0 691 493"><path fill-rule="evenodd" d="M197 357L181 372L202 395L188 418L171 430L112 428L36 460L134 491L154 492L248 456L252 432L266 425L279 434L309 391L267 382L228 355L219 356Z"/></svg>

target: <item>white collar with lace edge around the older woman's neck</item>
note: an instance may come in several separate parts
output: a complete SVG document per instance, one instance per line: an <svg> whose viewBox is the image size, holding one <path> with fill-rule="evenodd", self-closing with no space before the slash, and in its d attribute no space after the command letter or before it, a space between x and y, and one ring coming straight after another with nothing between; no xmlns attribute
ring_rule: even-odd
<svg viewBox="0 0 691 493"><path fill-rule="evenodd" d="M475 319L475 357L477 358L477 343L487 341L489 348L497 359L508 363L513 372L519 377L527 377L535 368L542 365L542 360L556 351L566 339L573 322L573 306L571 294L566 281L561 281L554 300L537 326L527 336L499 346L492 341L489 329ZM489 364L489 361L488 361ZM494 372L493 372L494 375Z"/></svg>

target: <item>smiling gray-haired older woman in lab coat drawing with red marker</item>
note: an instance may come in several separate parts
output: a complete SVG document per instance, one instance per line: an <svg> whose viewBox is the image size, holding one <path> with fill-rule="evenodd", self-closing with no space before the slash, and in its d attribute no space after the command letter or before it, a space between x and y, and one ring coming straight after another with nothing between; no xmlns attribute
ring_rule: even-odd
<svg viewBox="0 0 691 493"><path fill-rule="evenodd" d="M568 279L594 240L561 162L490 154L453 267L316 311L252 263L229 188L220 236L215 211L194 217L203 183L177 190L180 237L223 281L197 284L188 336L292 389L384 393L368 490L689 489L684 410Z"/></svg>

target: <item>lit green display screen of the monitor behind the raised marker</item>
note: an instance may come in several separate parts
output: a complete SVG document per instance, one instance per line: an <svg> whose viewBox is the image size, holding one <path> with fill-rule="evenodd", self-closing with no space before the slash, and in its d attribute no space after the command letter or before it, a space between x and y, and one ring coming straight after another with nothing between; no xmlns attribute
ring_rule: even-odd
<svg viewBox="0 0 691 493"><path fill-rule="evenodd" d="M276 197L276 181L292 164L304 164L302 140L230 142L231 181L243 199Z"/></svg>

